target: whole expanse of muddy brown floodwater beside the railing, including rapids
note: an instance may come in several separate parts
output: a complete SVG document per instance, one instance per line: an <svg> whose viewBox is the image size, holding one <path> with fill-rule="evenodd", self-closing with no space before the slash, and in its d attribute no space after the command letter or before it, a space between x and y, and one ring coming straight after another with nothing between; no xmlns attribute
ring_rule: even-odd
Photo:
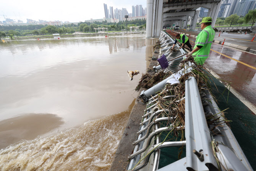
<svg viewBox="0 0 256 171"><path fill-rule="evenodd" d="M0 171L109 169L156 39L104 36L0 42Z"/></svg>

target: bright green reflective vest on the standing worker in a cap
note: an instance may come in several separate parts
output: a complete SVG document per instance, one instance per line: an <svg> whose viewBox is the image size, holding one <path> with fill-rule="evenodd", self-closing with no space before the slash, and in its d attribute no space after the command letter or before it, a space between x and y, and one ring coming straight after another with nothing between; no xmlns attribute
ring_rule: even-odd
<svg viewBox="0 0 256 171"><path fill-rule="evenodd" d="M194 58L208 58L214 36L215 36L214 29L212 29L211 26L205 27L198 34L196 38L196 45L194 46L194 48L196 48L196 46L203 46L203 47L201 47L201 49L199 49L198 51L194 52L192 56Z"/></svg>

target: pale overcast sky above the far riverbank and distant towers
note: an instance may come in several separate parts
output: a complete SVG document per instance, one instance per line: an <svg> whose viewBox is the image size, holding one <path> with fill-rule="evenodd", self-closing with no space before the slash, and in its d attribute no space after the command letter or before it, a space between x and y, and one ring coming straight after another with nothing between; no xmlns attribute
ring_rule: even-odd
<svg viewBox="0 0 256 171"><path fill-rule="evenodd" d="M0 21L4 21L3 15L8 18L22 20L28 19L38 21L70 21L79 22L87 19L100 19L105 17L103 3L113 6L113 9L126 8L132 13L131 6L142 5L146 7L147 0L83 0L81 2L69 0L3 0L0 8Z"/></svg>

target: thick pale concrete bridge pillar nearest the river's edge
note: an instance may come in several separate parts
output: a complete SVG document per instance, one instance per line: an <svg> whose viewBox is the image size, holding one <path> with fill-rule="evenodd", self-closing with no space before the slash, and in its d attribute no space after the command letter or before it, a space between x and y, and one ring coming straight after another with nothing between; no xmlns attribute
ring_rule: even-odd
<svg viewBox="0 0 256 171"><path fill-rule="evenodd" d="M163 0L147 0L146 37L159 37L162 29Z"/></svg>

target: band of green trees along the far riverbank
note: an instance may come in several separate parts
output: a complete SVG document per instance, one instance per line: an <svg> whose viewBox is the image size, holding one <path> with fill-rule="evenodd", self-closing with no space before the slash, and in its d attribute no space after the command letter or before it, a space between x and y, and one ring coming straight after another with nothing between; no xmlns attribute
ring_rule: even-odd
<svg viewBox="0 0 256 171"><path fill-rule="evenodd" d="M146 20L133 20L127 21L127 26L141 26L141 28L146 27ZM65 24L62 26L48 26L48 25L28 25L28 26L0 26L0 38L9 36L11 39L16 36L24 35L49 35L58 33L60 35L66 33L74 33L75 31L80 32L95 32L94 28L105 27L108 31L120 31L126 29L126 22L107 23L107 22L80 22L78 26L71 24Z"/></svg>

